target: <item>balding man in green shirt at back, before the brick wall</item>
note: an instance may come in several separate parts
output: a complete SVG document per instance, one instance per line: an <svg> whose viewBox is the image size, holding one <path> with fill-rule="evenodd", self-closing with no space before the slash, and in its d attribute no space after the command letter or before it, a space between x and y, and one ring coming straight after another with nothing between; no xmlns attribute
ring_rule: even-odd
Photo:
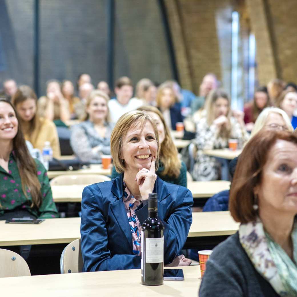
<svg viewBox="0 0 297 297"><path fill-rule="evenodd" d="M208 93L212 89L217 89L218 86L219 86L219 82L215 74L208 73L204 76L202 83L199 87L199 96L195 100L193 100L191 104L192 114L195 113L195 111L199 110L200 108L203 108L204 101Z"/></svg>

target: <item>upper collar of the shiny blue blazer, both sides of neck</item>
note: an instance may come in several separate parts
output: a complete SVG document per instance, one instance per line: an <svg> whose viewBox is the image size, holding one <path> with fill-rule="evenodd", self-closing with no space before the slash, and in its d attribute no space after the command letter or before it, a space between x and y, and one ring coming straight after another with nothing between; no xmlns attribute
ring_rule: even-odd
<svg viewBox="0 0 297 297"><path fill-rule="evenodd" d="M124 178L124 173L121 175L117 176L113 180L113 184L111 186L111 192L118 198L121 199L124 196L124 183L123 183L123 178ZM166 184L164 181L162 181L159 176L157 176L157 179L155 181L155 187L154 187L154 192L158 193L158 200L162 201L165 199L168 195L170 195Z"/></svg>

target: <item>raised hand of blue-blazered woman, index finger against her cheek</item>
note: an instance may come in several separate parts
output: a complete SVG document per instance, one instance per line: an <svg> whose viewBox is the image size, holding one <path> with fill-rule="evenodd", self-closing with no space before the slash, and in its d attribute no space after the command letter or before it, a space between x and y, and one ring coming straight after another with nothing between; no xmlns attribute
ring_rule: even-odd
<svg viewBox="0 0 297 297"><path fill-rule="evenodd" d="M151 159L150 169L142 168L136 174L135 180L137 181L141 199L146 200L149 198L149 193L153 192L157 175L155 170L155 157Z"/></svg>

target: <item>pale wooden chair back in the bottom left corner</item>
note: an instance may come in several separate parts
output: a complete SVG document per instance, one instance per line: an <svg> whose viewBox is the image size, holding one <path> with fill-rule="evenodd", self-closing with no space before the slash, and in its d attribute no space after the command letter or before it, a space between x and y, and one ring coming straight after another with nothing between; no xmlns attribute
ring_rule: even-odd
<svg viewBox="0 0 297 297"><path fill-rule="evenodd" d="M19 254L0 249L0 277L26 277L31 272L27 262Z"/></svg>

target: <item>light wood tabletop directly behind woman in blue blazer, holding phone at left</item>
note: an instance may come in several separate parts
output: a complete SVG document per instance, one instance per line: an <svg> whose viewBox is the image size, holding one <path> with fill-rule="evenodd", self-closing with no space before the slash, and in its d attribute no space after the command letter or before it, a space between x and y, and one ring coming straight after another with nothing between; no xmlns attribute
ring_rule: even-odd
<svg viewBox="0 0 297 297"><path fill-rule="evenodd" d="M188 237L231 235L238 230L229 211L193 212ZM80 218L46 219L38 225L0 221L0 246L69 243L80 238Z"/></svg>

